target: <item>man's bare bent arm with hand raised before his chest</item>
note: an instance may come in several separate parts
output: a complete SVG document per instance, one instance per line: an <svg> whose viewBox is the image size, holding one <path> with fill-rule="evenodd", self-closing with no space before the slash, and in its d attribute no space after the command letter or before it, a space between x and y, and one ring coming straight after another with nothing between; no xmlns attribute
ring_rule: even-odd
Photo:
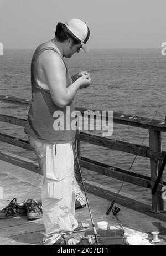
<svg viewBox="0 0 166 256"><path fill-rule="evenodd" d="M79 88L89 86L90 78L84 75L66 88L66 68L60 56L48 51L43 58L43 74L55 105L65 107L74 99Z"/></svg>

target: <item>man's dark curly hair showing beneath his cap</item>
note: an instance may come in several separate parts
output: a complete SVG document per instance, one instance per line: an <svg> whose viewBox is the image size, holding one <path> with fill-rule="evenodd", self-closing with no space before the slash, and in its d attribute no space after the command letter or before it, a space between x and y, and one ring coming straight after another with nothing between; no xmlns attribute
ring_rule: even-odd
<svg viewBox="0 0 166 256"><path fill-rule="evenodd" d="M59 42L64 42L65 40L71 38L74 44L80 43L80 40L70 32L70 30L65 26L65 24L61 22L58 22L58 24L56 25L55 36L59 40Z"/></svg>

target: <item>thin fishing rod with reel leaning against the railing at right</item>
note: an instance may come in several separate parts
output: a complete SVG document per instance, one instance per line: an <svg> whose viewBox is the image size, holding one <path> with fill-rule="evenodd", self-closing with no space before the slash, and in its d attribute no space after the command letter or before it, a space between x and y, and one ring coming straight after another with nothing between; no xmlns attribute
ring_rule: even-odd
<svg viewBox="0 0 166 256"><path fill-rule="evenodd" d="M165 100L165 97L166 97L166 95L164 96L163 101ZM163 101L162 101L162 102L163 102ZM139 151L141 150L141 147L142 147L142 145L143 145L143 143L144 143L144 141L145 141L145 139L146 139L146 137L147 137L147 135L148 135L148 133L149 133L149 130L151 129L151 126L153 125L153 120L154 120L155 117L158 115L158 112L159 112L160 108L163 106L163 104L164 104L164 103L160 104L158 110L155 112L154 118L153 118L152 121L151 121L151 125L149 126L149 129L148 129L148 131L147 131L147 133L146 133L146 136L144 137L144 139L143 139L143 141L142 141L142 144L141 144L141 146L139 147L139 149L138 149L138 151L137 151L137 153L136 153L136 156L134 157L134 160L133 160L131 166L129 167L128 173L131 171L131 168L132 168L132 166L133 166L133 163L135 162L135 160L136 160L136 158L137 158L137 156L138 156L138 153L139 153ZM121 184L121 187L120 187L120 189L118 190L118 192L117 192L115 198L113 199L111 205L110 205L110 203L108 204L106 215L109 215L109 214L110 214L111 209L113 208L113 206L114 206L114 204L115 204L115 201L116 201L116 199L117 199L117 197L118 197L118 194L120 193L120 191L121 191L121 189L122 189L124 183L125 183L125 177L124 177L124 180L123 180L123 182L122 182L122 184Z"/></svg>

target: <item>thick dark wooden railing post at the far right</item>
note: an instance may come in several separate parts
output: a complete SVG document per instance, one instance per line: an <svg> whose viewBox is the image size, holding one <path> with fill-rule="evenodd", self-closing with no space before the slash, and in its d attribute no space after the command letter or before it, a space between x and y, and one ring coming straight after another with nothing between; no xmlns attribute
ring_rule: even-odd
<svg viewBox="0 0 166 256"><path fill-rule="evenodd" d="M150 150L162 152L162 144L161 144L161 132L155 130L149 130L149 147ZM151 165L151 180L155 181L158 175L158 170L161 166L162 162L159 160L154 160L150 158ZM162 183L162 178L160 180ZM155 194L152 194L152 211L160 212L164 210L164 202L161 196L161 191L156 191Z"/></svg>

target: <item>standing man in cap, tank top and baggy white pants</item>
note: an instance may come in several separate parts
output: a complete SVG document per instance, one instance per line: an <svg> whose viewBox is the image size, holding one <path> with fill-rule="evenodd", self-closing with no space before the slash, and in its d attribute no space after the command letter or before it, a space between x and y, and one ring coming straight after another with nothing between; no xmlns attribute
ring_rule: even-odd
<svg viewBox="0 0 166 256"><path fill-rule="evenodd" d="M64 117L75 110L77 90L87 88L91 79L82 71L70 76L64 57L88 52L90 31L80 19L58 23L55 37L35 50L31 64L32 104L25 124L30 145L35 149L43 172L42 204L44 244L77 244L70 234L84 231L89 224L75 219L74 156L75 131L55 127L58 111ZM68 106L68 108L66 108ZM66 125L64 118L64 127ZM72 118L71 118L72 121Z"/></svg>

